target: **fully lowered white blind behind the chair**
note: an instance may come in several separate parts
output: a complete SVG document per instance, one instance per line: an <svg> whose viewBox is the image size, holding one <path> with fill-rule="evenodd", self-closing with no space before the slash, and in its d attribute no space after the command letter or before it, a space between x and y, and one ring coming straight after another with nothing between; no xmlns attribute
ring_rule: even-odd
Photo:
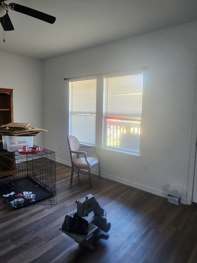
<svg viewBox="0 0 197 263"><path fill-rule="evenodd" d="M95 145L96 80L70 81L70 135Z"/></svg>

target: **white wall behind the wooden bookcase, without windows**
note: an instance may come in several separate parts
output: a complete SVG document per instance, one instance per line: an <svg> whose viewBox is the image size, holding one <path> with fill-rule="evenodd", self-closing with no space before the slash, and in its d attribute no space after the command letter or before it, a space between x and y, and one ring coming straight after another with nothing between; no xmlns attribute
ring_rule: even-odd
<svg viewBox="0 0 197 263"><path fill-rule="evenodd" d="M13 88L14 121L43 126L42 61L0 52L0 88ZM43 134L34 137L42 145Z"/></svg>

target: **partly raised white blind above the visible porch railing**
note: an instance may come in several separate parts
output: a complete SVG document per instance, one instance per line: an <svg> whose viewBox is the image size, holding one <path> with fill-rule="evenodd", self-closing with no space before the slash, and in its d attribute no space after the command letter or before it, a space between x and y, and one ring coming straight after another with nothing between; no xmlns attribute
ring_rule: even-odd
<svg viewBox="0 0 197 263"><path fill-rule="evenodd" d="M105 78L107 119L140 121L143 74Z"/></svg>

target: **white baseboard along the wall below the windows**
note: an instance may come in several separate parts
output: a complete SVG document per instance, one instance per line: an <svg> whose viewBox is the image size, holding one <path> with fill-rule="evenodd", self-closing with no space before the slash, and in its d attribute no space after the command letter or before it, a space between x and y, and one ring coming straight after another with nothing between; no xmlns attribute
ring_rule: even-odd
<svg viewBox="0 0 197 263"><path fill-rule="evenodd" d="M55 160L56 160L56 162L60 162L62 164L65 164L65 165L71 167L71 162L66 162L65 160L62 160L62 159L59 159L59 158L56 158ZM93 170L92 174L98 175L98 171ZM152 188L152 187L148 187L148 186L143 185L143 184L135 183L135 182L129 181L129 180L124 179L124 178L111 176L111 175L103 173L103 172L101 174L101 177L106 178L106 179L110 179L110 180L118 182L118 183L122 183L122 184L125 184L125 185L128 185L128 186L131 186L131 187L134 187L134 188L146 191L146 192L149 192L149 193L154 194L154 195L159 195L159 196L162 196L162 197L167 199L167 195L168 195L167 192L164 192L164 191ZM187 204L187 199L182 197L181 198L181 203Z"/></svg>

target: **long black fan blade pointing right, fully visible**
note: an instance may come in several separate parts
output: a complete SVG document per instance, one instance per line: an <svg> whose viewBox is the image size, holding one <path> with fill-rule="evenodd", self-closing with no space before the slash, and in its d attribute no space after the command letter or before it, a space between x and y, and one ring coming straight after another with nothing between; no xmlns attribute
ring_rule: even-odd
<svg viewBox="0 0 197 263"><path fill-rule="evenodd" d="M32 8L21 6L19 4L11 3L9 5L11 10L17 11L22 14L27 14L29 16L32 16L34 18L40 19L42 21L45 21L47 23L53 24L55 22L55 17L49 14L42 13L40 11L34 10Z"/></svg>

